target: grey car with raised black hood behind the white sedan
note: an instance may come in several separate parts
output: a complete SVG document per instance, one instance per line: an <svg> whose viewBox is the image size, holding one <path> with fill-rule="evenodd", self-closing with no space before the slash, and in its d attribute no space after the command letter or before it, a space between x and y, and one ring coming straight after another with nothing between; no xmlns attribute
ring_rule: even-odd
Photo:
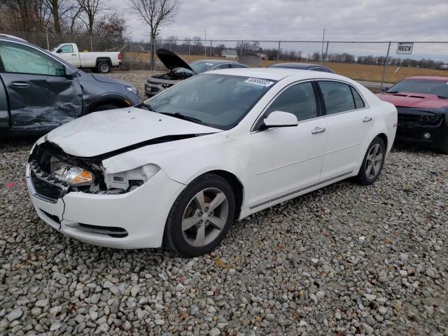
<svg viewBox="0 0 448 336"><path fill-rule="evenodd" d="M145 95L148 98L155 96L155 94L162 92L168 87L172 87L174 84L181 82L181 80L195 76L197 73L218 69L248 67L246 64L241 62L228 61L225 59L201 59L188 64L174 52L163 48L158 49L155 53L160 59L160 62L162 62L162 64L169 69L169 72L162 73L160 75L148 76L148 78L146 78ZM251 60L246 56L243 59L246 61Z"/></svg>

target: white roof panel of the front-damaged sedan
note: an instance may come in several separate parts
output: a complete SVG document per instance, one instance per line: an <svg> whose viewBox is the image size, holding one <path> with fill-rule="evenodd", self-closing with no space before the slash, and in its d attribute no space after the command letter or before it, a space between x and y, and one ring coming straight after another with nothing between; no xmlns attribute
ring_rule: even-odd
<svg viewBox="0 0 448 336"><path fill-rule="evenodd" d="M291 69L291 68L237 68L237 69L220 69L214 70L213 73L219 73L223 75L230 76L245 76L245 77L256 77L262 79L270 80L281 80L289 76L295 76L297 80L305 79L315 79L315 78L329 78L329 79L339 79L353 82L349 78L344 76L339 76L335 73L330 72L318 72L309 71L301 69Z"/></svg>

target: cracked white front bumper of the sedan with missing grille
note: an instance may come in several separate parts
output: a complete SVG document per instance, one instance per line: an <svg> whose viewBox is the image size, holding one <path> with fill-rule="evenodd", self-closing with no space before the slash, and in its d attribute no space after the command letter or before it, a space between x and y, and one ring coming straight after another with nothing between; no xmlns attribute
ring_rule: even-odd
<svg viewBox="0 0 448 336"><path fill-rule="evenodd" d="M38 216L64 235L112 248L160 247L169 210L185 188L160 169L126 193L86 193L55 183L39 170L28 162L27 186Z"/></svg>

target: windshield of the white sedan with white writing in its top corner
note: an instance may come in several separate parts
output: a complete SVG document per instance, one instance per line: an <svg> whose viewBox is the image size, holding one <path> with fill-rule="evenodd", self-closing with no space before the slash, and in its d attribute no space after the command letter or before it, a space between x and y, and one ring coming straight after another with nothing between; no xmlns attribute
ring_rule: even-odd
<svg viewBox="0 0 448 336"><path fill-rule="evenodd" d="M204 73L144 102L147 109L230 130L274 85L274 80Z"/></svg>

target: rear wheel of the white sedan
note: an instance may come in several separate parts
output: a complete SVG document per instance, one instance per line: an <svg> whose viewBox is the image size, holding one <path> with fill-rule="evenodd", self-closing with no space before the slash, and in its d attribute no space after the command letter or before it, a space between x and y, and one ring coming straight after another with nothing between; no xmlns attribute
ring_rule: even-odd
<svg viewBox="0 0 448 336"><path fill-rule="evenodd" d="M369 186L377 181L384 167L384 158L386 158L386 146L383 139L376 137L367 147L356 179L363 186Z"/></svg>

